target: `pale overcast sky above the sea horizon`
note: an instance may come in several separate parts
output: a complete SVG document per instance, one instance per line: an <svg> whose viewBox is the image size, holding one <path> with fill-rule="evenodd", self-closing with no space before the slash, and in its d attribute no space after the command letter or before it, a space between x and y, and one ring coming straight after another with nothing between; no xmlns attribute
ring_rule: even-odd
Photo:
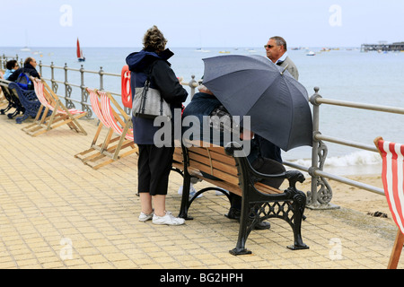
<svg viewBox="0 0 404 287"><path fill-rule="evenodd" d="M0 0L0 47L142 47L156 25L167 47L360 47L404 41L402 0ZM13 12L13 13L12 13Z"/></svg>

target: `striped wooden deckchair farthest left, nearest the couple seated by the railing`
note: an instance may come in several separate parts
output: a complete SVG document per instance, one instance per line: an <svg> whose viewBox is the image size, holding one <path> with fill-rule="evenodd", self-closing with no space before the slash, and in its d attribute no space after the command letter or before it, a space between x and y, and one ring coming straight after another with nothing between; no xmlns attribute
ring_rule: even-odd
<svg viewBox="0 0 404 287"><path fill-rule="evenodd" d="M22 128L28 135L36 136L47 133L59 126L67 125L76 133L87 135L78 119L85 117L87 112L79 109L67 109L44 80L31 78L34 90L40 100L41 107L34 119L34 123ZM41 115L46 115L41 117ZM48 114L50 114L48 116Z"/></svg>

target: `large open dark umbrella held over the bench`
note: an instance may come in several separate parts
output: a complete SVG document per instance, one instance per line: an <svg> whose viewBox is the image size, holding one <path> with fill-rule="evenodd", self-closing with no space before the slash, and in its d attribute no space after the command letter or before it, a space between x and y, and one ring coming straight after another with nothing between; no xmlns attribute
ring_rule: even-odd
<svg viewBox="0 0 404 287"><path fill-rule="evenodd" d="M303 85L266 57L209 57L204 85L232 116L250 116L251 130L285 152L312 146L312 111Z"/></svg>

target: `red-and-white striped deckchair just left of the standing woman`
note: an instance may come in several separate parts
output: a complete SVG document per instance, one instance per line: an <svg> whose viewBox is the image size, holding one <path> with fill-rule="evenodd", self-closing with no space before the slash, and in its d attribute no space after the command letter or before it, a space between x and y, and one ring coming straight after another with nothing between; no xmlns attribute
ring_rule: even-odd
<svg viewBox="0 0 404 287"><path fill-rule="evenodd" d="M100 120L100 124L90 149L77 153L75 157L91 166L92 169L98 170L113 161L118 161L129 154L137 152L137 146L133 142L130 117L120 108L118 102L114 100L110 93L89 88L87 88L87 91L90 94L92 111ZM111 107L111 101L122 116ZM121 117L124 117L124 119ZM108 132L103 143L97 144L103 126L108 128ZM112 138L112 135L116 136Z"/></svg>

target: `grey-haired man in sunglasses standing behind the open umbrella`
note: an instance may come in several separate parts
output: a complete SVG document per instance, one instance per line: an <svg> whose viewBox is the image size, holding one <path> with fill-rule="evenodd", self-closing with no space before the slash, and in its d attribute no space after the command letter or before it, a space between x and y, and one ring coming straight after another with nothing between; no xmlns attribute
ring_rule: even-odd
<svg viewBox="0 0 404 287"><path fill-rule="evenodd" d="M287 56L286 41L282 37L275 36L268 40L268 44L264 46L267 50L267 57L274 64L286 67L286 70L294 76L296 81L299 80L299 71L297 71L296 65Z"/></svg>

